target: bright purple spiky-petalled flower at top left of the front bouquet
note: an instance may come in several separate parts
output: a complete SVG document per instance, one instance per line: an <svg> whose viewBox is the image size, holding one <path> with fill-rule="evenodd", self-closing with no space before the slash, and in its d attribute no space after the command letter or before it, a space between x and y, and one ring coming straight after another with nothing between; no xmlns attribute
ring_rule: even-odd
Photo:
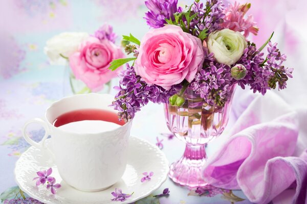
<svg viewBox="0 0 307 204"><path fill-rule="evenodd" d="M147 24L151 28L164 27L165 19L173 19L173 14L177 12L178 0L147 0L146 7L149 9L145 13Z"/></svg>

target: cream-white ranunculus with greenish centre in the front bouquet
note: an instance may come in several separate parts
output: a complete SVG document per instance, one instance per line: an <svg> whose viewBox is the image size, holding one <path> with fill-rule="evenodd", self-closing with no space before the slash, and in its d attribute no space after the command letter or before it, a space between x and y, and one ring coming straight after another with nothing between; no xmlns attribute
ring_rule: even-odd
<svg viewBox="0 0 307 204"><path fill-rule="evenodd" d="M218 63L232 65L242 57L247 42L239 32L223 29L208 36L207 46Z"/></svg>

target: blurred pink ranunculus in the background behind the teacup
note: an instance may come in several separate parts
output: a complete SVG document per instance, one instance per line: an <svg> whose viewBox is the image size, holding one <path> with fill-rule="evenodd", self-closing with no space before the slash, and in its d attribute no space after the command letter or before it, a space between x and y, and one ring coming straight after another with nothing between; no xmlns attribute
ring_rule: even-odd
<svg viewBox="0 0 307 204"><path fill-rule="evenodd" d="M76 79L92 91L99 91L105 83L117 77L120 70L109 70L109 63L123 57L120 47L111 41L89 37L81 44L79 52L69 57L69 62Z"/></svg>

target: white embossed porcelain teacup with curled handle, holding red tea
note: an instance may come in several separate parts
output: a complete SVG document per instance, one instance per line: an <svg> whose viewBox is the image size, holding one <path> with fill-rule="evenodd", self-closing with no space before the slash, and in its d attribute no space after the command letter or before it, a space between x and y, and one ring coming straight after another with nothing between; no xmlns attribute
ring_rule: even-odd
<svg viewBox="0 0 307 204"><path fill-rule="evenodd" d="M65 97L46 110L46 121L35 118L27 122L23 131L24 138L37 148L49 150L45 141L51 135L52 155L67 184L81 191L106 189L119 181L125 171L131 121L112 131L99 133L63 131L55 127L53 122L63 113L80 109L103 109L116 113L108 107L113 100L112 95L95 93ZM26 133L27 126L33 122L40 123L46 131L39 143Z"/></svg>

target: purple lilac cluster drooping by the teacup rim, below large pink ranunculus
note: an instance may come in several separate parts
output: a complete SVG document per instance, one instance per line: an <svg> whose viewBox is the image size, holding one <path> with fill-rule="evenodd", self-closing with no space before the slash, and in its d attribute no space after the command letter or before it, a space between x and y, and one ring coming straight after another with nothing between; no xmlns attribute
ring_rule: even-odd
<svg viewBox="0 0 307 204"><path fill-rule="evenodd" d="M156 104L167 103L168 98L181 89L180 85L173 86L170 90L157 85L148 85L136 74L133 66L129 64L126 66L127 69L119 74L121 78L119 87L115 87L119 92L115 95L116 100L111 105L119 111L120 119L134 118L135 113L149 101Z"/></svg>

